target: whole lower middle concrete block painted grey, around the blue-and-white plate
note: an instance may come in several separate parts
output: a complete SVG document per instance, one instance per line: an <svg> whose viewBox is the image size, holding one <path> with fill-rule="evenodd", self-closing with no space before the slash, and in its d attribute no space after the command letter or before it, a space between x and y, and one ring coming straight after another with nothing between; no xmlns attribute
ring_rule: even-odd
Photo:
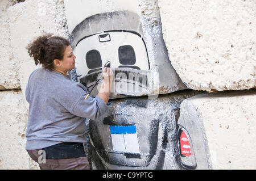
<svg viewBox="0 0 256 181"><path fill-rule="evenodd" d="M178 91L158 99L126 98L110 101L101 120L90 120L90 151L93 169L181 169L177 150L177 110L180 103L197 91ZM111 126L136 129L132 142L118 142L126 151L114 150ZM138 144L138 145L137 145ZM127 150L129 149L129 150ZM139 150L139 151L138 151Z"/></svg>

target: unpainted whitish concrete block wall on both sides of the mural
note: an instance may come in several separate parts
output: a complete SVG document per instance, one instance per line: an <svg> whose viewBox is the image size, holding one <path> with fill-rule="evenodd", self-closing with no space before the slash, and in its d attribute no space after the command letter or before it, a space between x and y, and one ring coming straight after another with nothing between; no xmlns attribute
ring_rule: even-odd
<svg viewBox="0 0 256 181"><path fill-rule="evenodd" d="M138 2L146 26L162 27L168 58L181 81L189 89L206 91L180 106L179 123L200 127L205 136L201 144L207 167L197 161L197 169L256 169L255 160L246 159L256 146L256 3ZM64 1L2 0L0 12L0 129L5 133L0 137L0 169L39 169L24 150L28 111L24 88L38 68L26 45L44 32L69 38ZM221 92L213 93L217 91ZM164 166L171 168L179 167Z"/></svg>

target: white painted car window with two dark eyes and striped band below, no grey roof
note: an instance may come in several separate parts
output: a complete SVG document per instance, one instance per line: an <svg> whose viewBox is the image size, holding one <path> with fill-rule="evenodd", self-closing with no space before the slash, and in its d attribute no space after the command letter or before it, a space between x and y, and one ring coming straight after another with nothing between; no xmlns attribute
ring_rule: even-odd
<svg viewBox="0 0 256 181"><path fill-rule="evenodd" d="M146 45L138 33L96 33L81 39L74 51L77 54L77 77L88 89L97 80L105 62L110 61L115 74L114 92L129 95L129 92L141 94L147 91L150 64Z"/></svg>

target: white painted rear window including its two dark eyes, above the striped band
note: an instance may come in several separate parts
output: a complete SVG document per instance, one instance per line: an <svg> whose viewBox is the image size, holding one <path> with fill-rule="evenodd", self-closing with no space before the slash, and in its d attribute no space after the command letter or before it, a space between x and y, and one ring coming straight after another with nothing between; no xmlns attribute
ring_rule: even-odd
<svg viewBox="0 0 256 181"><path fill-rule="evenodd" d="M76 54L77 63L85 65L77 67L77 75L101 70L107 61L111 62L113 68L149 69L146 47L136 33L97 33L80 40Z"/></svg>

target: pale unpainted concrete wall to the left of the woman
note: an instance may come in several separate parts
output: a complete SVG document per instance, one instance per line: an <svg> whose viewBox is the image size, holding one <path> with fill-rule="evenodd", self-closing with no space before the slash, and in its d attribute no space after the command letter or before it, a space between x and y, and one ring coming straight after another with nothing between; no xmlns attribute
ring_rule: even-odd
<svg viewBox="0 0 256 181"><path fill-rule="evenodd" d="M68 38L63 1L0 2L0 169L39 169L26 152L28 103L24 97L30 73L39 68L26 46L44 32Z"/></svg>

